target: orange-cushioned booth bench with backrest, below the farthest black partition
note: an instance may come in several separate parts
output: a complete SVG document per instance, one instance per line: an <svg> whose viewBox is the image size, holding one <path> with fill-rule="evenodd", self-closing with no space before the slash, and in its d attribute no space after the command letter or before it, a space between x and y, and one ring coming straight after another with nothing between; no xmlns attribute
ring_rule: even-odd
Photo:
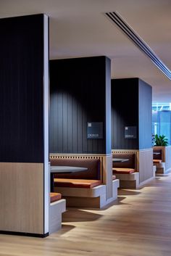
<svg viewBox="0 0 171 256"><path fill-rule="evenodd" d="M120 188L137 189L139 186L139 173L136 170L135 153L114 152L113 158L125 159L125 162L113 162L112 172L120 180Z"/></svg>

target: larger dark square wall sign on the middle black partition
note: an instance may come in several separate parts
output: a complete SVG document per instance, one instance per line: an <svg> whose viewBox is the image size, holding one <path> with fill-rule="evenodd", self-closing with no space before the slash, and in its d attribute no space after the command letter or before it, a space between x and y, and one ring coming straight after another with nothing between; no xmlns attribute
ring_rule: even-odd
<svg viewBox="0 0 171 256"><path fill-rule="evenodd" d="M87 123L87 139L103 139L103 123Z"/></svg>

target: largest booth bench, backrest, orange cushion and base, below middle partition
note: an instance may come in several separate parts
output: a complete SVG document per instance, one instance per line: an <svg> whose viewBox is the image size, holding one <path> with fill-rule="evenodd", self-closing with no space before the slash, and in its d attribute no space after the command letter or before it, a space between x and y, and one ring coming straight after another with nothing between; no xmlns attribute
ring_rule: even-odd
<svg viewBox="0 0 171 256"><path fill-rule="evenodd" d="M54 191L62 193L67 206L103 207L106 205L106 185L103 183L101 161L90 157L51 157L51 165L83 167L77 173L54 174ZM119 181L116 180L117 187ZM117 198L117 191L115 191ZM116 199L115 198L115 199Z"/></svg>

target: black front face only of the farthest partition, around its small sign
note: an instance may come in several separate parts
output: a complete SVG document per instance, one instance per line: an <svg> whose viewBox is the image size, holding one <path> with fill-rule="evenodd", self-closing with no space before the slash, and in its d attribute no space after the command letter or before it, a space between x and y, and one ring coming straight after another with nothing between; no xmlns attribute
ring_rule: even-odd
<svg viewBox="0 0 171 256"><path fill-rule="evenodd" d="M137 139L125 139L125 126ZM112 149L138 149L138 78L112 79Z"/></svg>

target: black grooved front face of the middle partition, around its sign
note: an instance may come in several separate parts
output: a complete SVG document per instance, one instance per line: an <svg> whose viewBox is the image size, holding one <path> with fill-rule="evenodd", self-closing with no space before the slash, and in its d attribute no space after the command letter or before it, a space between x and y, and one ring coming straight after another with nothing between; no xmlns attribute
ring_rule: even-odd
<svg viewBox="0 0 171 256"><path fill-rule="evenodd" d="M107 57L51 60L51 153L105 154L110 150L106 146L107 67ZM87 139L88 122L103 122L103 139Z"/></svg>

